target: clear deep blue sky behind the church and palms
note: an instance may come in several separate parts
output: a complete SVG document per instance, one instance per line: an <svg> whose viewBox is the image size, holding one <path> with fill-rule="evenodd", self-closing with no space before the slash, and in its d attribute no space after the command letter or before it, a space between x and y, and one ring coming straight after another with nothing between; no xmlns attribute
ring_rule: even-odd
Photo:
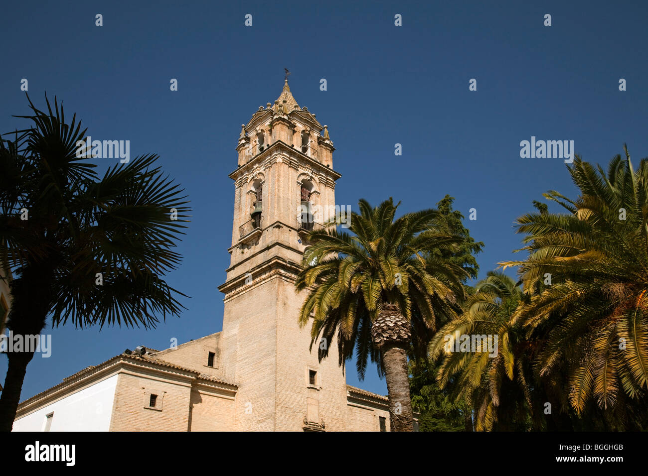
<svg viewBox="0 0 648 476"><path fill-rule="evenodd" d="M227 174L240 124L279 96L284 67L299 105L329 125L342 174L336 202L357 209L359 198L393 196L405 212L451 194L466 218L477 209L466 225L485 242L481 276L513 258L513 220L533 199L574 192L561 159L521 159L520 141L573 140L584 159L603 164L623 142L636 162L648 155L648 7L640 1L143 4L3 6L0 131L25 126L10 116L28 113L27 78L37 105L45 91L58 96L95 139L130 140L132 157L159 153L193 207L179 247L185 261L168 277L192 299L155 330L48 328L52 356L34 357L21 400L125 348L162 349L172 337L221 330L216 288L229 266L234 199ZM319 90L321 78L328 91ZM3 356L2 381L5 373ZM386 393L374 370L358 382L350 366L347 381Z"/></svg>

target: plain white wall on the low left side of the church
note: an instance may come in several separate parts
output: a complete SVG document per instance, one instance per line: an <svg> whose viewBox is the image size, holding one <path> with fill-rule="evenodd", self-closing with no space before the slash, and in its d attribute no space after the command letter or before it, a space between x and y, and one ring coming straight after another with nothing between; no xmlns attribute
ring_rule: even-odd
<svg viewBox="0 0 648 476"><path fill-rule="evenodd" d="M108 431L117 375L42 407L14 422L13 431L43 431L54 412L50 431Z"/></svg>

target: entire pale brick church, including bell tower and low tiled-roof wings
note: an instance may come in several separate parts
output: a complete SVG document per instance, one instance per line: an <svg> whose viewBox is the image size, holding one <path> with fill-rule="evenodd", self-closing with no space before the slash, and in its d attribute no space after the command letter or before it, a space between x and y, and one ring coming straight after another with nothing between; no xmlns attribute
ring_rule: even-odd
<svg viewBox="0 0 648 476"><path fill-rule="evenodd" d="M297 323L307 232L335 207L334 150L286 78L238 137L222 332L84 368L20 403L14 431L389 431L387 397L347 385L336 343L319 362Z"/></svg>

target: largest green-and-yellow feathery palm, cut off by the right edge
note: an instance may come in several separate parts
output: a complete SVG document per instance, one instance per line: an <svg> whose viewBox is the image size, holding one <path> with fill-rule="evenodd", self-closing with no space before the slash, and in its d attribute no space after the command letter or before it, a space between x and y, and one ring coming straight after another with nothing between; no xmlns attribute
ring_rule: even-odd
<svg viewBox="0 0 648 476"><path fill-rule="evenodd" d="M529 295L538 283L546 284L514 320L527 332L542 328L538 374L562 372L570 404L579 415L592 404L624 415L632 408L643 414L639 407L645 407L648 159L634 170L625 146L624 151L625 159L616 155L607 174L576 157L569 172L579 198L544 194L567 213L518 218L529 256L503 263L519 266Z"/></svg>

